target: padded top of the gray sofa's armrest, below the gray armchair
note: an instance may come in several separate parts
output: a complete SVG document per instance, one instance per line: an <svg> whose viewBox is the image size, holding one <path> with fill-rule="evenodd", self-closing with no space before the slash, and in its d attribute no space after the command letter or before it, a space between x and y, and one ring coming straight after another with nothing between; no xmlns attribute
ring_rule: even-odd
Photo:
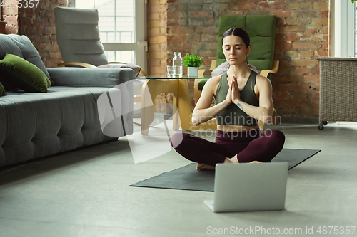
<svg viewBox="0 0 357 237"><path fill-rule="evenodd" d="M129 68L47 68L53 85L112 88L133 80Z"/></svg>

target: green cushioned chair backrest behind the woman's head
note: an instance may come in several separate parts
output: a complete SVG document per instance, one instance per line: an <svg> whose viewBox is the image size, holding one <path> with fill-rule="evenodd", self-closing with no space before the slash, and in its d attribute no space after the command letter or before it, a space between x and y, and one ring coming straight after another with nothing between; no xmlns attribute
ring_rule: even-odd
<svg viewBox="0 0 357 237"><path fill-rule="evenodd" d="M270 70L275 47L275 15L221 15L219 17L216 67L226 61L222 49L222 36L229 28L243 28L251 38L248 63L259 70Z"/></svg>

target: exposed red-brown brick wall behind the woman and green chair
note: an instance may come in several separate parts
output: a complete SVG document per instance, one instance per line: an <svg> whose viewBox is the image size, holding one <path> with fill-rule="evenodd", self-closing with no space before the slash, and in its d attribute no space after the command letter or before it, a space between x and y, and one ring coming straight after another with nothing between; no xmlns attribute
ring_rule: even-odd
<svg viewBox="0 0 357 237"><path fill-rule="evenodd" d="M170 63L174 51L181 51L183 55L198 51L205 58L203 68L209 68L211 60L216 58L221 14L276 15L274 60L280 61L280 67L271 78L276 110L283 117L318 117L316 57L329 55L329 0L166 1L167 48L161 48L161 55L158 54L161 58L156 58L156 63L166 58ZM150 14L148 11L148 16ZM148 39L150 46L151 38ZM149 48L149 55L151 53ZM191 82L189 86L193 90Z"/></svg>

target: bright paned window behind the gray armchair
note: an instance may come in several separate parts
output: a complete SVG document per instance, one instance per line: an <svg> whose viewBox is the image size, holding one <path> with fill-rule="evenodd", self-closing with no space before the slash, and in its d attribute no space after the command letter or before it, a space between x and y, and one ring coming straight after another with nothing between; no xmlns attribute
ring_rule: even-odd
<svg viewBox="0 0 357 237"><path fill-rule="evenodd" d="M69 0L70 7L98 9L99 33L109 62L146 70L145 0Z"/></svg>

